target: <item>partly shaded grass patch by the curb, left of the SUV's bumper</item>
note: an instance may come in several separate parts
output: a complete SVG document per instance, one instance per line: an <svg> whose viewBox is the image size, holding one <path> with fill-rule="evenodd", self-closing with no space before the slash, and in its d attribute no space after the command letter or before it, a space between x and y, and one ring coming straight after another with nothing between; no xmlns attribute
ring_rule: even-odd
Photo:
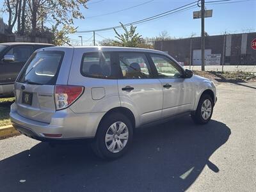
<svg viewBox="0 0 256 192"><path fill-rule="evenodd" d="M0 99L0 127L11 124L9 113L10 106L14 100L14 97Z"/></svg>

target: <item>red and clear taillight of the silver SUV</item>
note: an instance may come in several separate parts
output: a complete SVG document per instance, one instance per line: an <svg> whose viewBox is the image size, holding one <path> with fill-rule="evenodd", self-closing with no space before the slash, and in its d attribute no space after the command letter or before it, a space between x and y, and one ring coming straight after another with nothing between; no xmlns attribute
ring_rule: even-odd
<svg viewBox="0 0 256 192"><path fill-rule="evenodd" d="M83 91L83 86L56 85L54 93L56 109L67 108L82 95Z"/></svg>

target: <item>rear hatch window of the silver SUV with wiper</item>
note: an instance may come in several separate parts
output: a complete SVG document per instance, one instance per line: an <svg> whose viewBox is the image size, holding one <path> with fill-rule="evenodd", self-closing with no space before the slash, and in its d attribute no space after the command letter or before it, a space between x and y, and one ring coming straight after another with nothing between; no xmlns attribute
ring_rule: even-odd
<svg viewBox="0 0 256 192"><path fill-rule="evenodd" d="M29 58L18 82L28 84L56 84L64 52L40 51Z"/></svg>

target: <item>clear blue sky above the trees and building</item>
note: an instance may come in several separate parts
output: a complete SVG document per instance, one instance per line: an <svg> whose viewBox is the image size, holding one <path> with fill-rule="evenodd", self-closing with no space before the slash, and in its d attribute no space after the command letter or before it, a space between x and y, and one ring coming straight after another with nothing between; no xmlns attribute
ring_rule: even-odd
<svg viewBox="0 0 256 192"><path fill-rule="evenodd" d="M205 2L207 1L212 0L205 0ZM209 35L219 35L225 33L225 31L228 33L256 31L256 1L232 1L236 3L205 3L206 10L213 10L212 17L205 19L205 31ZM91 0L88 2L87 9L81 8L85 19L74 20L74 26L78 27L77 31L109 28L118 26L119 22L126 24L145 19L191 2L193 0ZM108 14L142 3L145 4L122 12ZM200 36L201 21L200 19L193 19L193 11L196 10L200 10L200 8L195 7L161 19L138 24L138 33L143 37L158 36L161 31L168 31L168 34L175 38L186 38L191 36L192 33ZM95 17L102 14L108 15ZM7 20L8 15L3 14L2 17ZM118 31L122 33L122 29L118 29ZM83 44L90 45L92 44L92 35L93 33L76 33L69 36L72 44L79 45L81 41L79 36L83 36ZM95 39L96 42L99 42L104 38L114 38L114 36L115 32L113 30L99 31L96 32Z"/></svg>

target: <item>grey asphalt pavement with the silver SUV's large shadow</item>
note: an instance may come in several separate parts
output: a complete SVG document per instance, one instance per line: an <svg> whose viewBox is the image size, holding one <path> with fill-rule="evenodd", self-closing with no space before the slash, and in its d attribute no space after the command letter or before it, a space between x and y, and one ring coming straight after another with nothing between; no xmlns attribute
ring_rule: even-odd
<svg viewBox="0 0 256 192"><path fill-rule="evenodd" d="M256 83L221 83L207 125L189 116L137 129L102 161L84 143L0 140L0 191L255 191Z"/></svg>

